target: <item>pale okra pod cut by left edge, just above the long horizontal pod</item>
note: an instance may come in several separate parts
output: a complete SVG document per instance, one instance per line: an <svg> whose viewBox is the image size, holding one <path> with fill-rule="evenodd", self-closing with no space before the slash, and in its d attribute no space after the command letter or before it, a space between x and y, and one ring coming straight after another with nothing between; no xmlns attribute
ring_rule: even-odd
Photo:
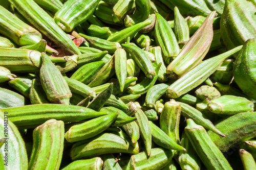
<svg viewBox="0 0 256 170"><path fill-rule="evenodd" d="M21 94L0 87L0 108L28 105L29 101Z"/></svg>

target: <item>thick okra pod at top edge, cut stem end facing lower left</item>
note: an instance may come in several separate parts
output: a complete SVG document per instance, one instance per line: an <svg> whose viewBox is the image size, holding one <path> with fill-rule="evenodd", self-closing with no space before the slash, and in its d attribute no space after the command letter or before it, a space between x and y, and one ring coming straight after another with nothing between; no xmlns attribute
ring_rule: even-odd
<svg viewBox="0 0 256 170"><path fill-rule="evenodd" d="M73 28L86 21L93 14L99 1L68 1L56 12L54 21L63 31L71 32Z"/></svg>

